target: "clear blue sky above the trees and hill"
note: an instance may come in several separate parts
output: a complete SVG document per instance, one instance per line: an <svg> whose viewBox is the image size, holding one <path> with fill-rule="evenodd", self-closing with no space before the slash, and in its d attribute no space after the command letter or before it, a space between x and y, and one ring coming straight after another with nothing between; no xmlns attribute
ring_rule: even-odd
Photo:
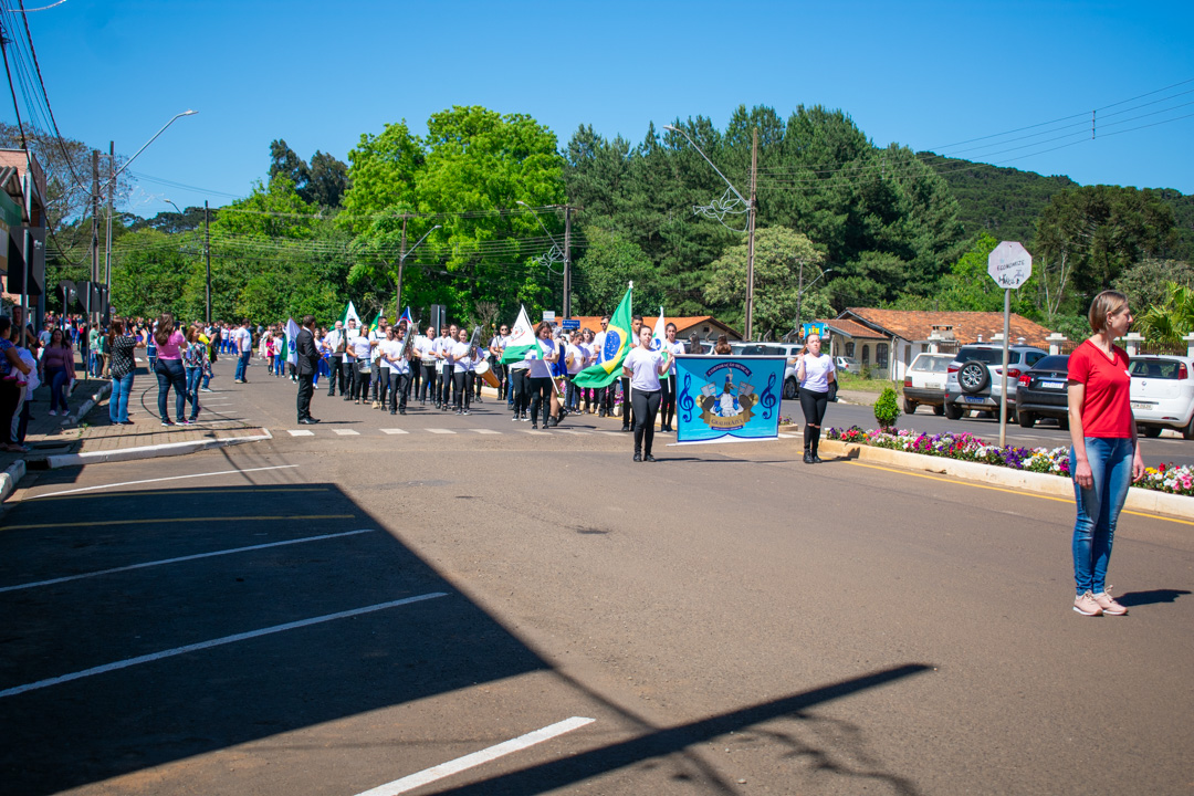
<svg viewBox="0 0 1194 796"><path fill-rule="evenodd" d="M1189 0L67 0L29 21L64 136L103 150L115 140L128 156L174 113L198 111L130 167L144 178L124 209L146 216L170 210L165 198L219 206L245 196L265 178L273 138L304 159L320 149L346 161L362 134L404 118L421 132L453 105L528 113L562 147L580 124L638 143L651 122L706 116L724 128L740 104L784 117L821 104L844 110L879 146L1194 192ZM2 105L12 122L11 98ZM1106 109L1094 141L1091 109ZM1072 138L946 148L1083 113L1057 134L1084 132Z"/></svg>

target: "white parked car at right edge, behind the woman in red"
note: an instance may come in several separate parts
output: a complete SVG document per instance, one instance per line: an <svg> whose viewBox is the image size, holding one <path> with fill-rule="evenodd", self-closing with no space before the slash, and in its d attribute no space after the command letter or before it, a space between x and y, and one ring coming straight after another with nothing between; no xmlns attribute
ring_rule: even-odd
<svg viewBox="0 0 1194 796"><path fill-rule="evenodd" d="M1194 439L1194 359L1169 354L1138 354L1132 375L1132 414L1145 437L1163 428Z"/></svg>

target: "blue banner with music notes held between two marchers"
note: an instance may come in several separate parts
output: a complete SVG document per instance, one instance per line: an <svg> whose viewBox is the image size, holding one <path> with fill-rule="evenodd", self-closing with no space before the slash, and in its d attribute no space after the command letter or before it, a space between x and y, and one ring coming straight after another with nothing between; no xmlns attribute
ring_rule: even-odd
<svg viewBox="0 0 1194 796"><path fill-rule="evenodd" d="M780 436L783 357L676 357L677 443Z"/></svg>

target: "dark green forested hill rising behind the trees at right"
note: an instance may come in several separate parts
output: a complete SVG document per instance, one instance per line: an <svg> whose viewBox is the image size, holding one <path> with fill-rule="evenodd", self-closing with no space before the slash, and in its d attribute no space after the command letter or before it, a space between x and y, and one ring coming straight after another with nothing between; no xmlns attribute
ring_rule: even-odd
<svg viewBox="0 0 1194 796"><path fill-rule="evenodd" d="M1032 243L1036 236L1036 218L1055 195L1078 187L1069 177L1045 177L1018 168L1001 168L968 160L941 158L930 152L917 156L933 165L949 185L958 200L959 221L965 234L990 233L997 240ZM1194 195L1183 196L1173 189L1151 189L1174 211L1177 233L1175 259L1194 255Z"/></svg>

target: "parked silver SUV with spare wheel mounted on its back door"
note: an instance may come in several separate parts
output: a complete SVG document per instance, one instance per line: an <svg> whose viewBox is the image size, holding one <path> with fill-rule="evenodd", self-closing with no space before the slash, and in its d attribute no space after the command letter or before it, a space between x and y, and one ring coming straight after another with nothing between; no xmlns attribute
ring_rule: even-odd
<svg viewBox="0 0 1194 796"><path fill-rule="evenodd" d="M1048 352L1035 346L1011 346L1008 350L1008 391L1014 396L1021 372ZM946 376L946 416L958 420L970 409L999 412L1003 371L1002 345L967 345L958 350ZM1008 402L1008 420L1016 416L1015 399Z"/></svg>

